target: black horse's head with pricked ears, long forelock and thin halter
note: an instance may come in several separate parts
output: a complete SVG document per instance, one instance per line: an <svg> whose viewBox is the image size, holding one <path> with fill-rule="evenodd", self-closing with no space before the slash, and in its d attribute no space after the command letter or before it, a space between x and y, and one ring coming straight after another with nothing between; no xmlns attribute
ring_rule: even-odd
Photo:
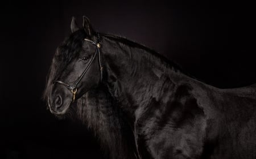
<svg viewBox="0 0 256 159"><path fill-rule="evenodd" d="M102 80L100 37L85 16L79 28L72 18L72 34L53 57L44 98L53 114L65 114L72 102Z"/></svg>

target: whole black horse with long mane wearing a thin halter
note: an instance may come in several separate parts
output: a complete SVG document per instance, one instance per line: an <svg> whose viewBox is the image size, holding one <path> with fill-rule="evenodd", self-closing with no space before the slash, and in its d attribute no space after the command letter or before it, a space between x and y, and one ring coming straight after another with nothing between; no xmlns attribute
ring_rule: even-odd
<svg viewBox="0 0 256 159"><path fill-rule="evenodd" d="M256 85L212 87L86 17L71 29L44 98L91 127L111 158L256 158Z"/></svg>

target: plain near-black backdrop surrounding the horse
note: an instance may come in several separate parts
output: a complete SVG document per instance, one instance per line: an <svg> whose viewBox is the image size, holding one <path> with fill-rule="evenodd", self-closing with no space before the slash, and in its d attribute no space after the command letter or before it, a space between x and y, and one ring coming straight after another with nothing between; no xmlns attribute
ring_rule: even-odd
<svg viewBox="0 0 256 159"><path fill-rule="evenodd" d="M256 83L253 5L245 1L1 2L0 158L102 158L92 132L59 121L42 92L56 47L88 16L100 32L144 44L205 83Z"/></svg>

